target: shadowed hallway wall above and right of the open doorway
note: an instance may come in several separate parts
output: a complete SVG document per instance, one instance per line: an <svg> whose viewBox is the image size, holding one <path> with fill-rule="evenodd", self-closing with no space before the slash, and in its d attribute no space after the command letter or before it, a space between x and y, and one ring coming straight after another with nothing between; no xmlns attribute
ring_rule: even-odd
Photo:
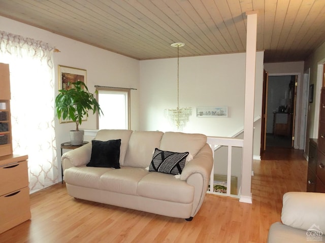
<svg viewBox="0 0 325 243"><path fill-rule="evenodd" d="M297 87L297 100L296 100L296 120L295 120L295 141L294 147L297 149L304 149L304 132L302 132L301 124L302 119L305 119L305 114L302 111L303 97L303 73L304 62L277 62L277 63L265 63L264 69L270 76L274 75L298 75L298 87Z"/></svg>

